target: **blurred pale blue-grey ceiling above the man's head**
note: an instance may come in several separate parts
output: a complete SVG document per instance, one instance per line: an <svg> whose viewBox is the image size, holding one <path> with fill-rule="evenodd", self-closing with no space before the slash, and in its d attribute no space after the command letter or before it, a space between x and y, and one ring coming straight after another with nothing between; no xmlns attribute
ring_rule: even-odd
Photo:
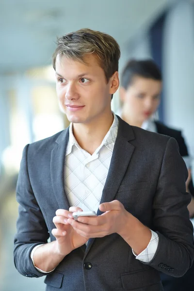
<svg viewBox="0 0 194 291"><path fill-rule="evenodd" d="M111 34L122 49L169 1L1 0L0 72L50 65L56 36L84 27Z"/></svg>

